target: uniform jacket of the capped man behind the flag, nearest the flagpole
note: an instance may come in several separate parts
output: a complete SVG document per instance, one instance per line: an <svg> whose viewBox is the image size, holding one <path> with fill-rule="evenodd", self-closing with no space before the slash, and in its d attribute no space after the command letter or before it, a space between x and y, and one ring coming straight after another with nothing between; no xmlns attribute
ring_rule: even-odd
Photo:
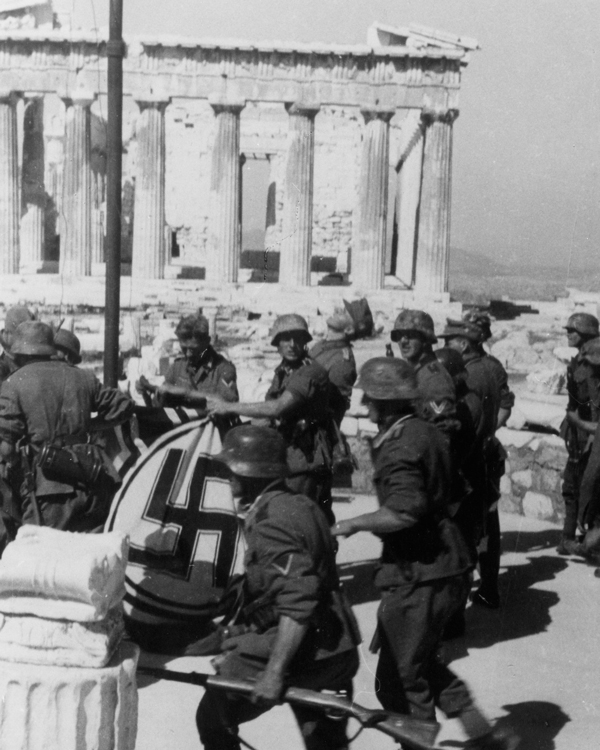
<svg viewBox="0 0 600 750"><path fill-rule="evenodd" d="M165 375L165 384L202 390L225 401L239 401L236 379L235 365L209 346L197 366L178 357ZM165 405L181 405L181 398L166 394Z"/></svg>

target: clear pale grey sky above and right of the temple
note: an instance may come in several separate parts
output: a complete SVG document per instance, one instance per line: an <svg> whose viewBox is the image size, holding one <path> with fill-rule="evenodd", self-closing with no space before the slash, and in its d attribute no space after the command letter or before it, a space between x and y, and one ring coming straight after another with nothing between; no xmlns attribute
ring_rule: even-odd
<svg viewBox="0 0 600 750"><path fill-rule="evenodd" d="M84 27L109 0L73 3ZM62 4L61 3L61 4ZM454 125L452 245L600 270L598 0L123 0L125 34L364 43L373 21L474 37Z"/></svg>

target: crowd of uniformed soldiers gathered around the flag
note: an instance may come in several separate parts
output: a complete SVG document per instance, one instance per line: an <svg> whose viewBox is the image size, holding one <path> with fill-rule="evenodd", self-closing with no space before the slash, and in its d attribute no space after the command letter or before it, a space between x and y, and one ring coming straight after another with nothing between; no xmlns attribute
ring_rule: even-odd
<svg viewBox="0 0 600 750"><path fill-rule="evenodd" d="M436 335L427 313L398 315L391 340L399 356L388 347L387 356L366 362L358 379L378 427L371 458L379 508L336 522L332 470L336 453L348 450L340 424L357 380L354 332L348 312L337 312L327 320L326 338L309 348L306 320L278 317L271 344L281 362L265 400L247 403L239 400L235 366L211 345L206 318L184 317L176 329L181 356L164 383L138 384L148 404L195 407L228 420L217 460L230 473L247 554L244 607L218 631L216 664L221 674L252 678L255 686L250 698L206 691L197 714L201 741L207 750L237 750L239 724L279 701L288 684L351 694L360 635L335 555L345 538L369 532L383 542L372 644L380 654L380 703L424 721L435 720L437 707L461 721L467 747L514 750L518 738L489 723L439 658L442 641L464 632L469 596L478 606L501 606L498 500L505 454L495 433L514 396L501 363L484 349L490 319L469 311ZM584 409L600 408L590 396L600 384L598 321L573 316L567 333L580 352L569 368L567 520L558 551L589 555L595 540L587 539L586 547L576 532L585 463L600 467L600 448L599 458L588 461L597 417ZM53 331L25 308L9 311L1 336L5 538L23 523L101 528L118 477L90 438L92 414L104 423L127 420L131 399L78 367L73 334ZM434 349L438 339L444 346ZM251 423L240 424L244 418ZM588 484L597 481L598 469ZM471 593L475 568L479 584ZM188 653L200 653L198 644ZM343 721L294 710L307 748L347 747Z"/></svg>

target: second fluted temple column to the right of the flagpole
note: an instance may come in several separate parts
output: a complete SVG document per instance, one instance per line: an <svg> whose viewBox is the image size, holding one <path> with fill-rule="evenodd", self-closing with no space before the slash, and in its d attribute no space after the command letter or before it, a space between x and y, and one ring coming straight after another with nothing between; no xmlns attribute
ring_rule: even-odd
<svg viewBox="0 0 600 750"><path fill-rule="evenodd" d="M210 219L206 278L237 281L241 254L240 112L242 102L211 101L216 136L210 177Z"/></svg>

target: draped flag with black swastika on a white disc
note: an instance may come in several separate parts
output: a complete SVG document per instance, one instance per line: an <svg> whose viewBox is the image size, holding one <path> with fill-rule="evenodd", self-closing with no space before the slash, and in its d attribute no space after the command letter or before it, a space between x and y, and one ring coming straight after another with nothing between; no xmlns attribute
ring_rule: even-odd
<svg viewBox="0 0 600 750"><path fill-rule="evenodd" d="M105 528L129 535L125 615L145 648L192 640L243 569L231 487L214 460L220 450L210 420L180 425L137 461L113 500Z"/></svg>

